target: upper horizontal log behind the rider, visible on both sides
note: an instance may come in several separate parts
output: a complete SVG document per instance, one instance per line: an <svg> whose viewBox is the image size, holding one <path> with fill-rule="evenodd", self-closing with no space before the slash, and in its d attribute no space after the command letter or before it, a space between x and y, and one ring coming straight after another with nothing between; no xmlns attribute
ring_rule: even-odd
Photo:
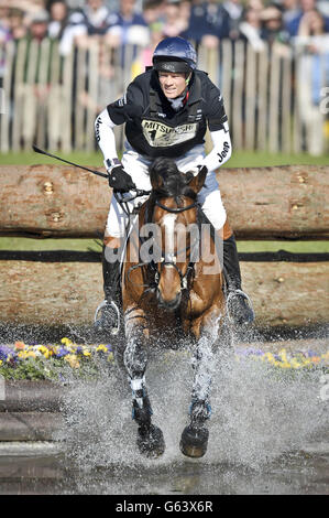
<svg viewBox="0 0 329 518"><path fill-rule="evenodd" d="M328 239L328 177L329 166L316 165L222 169L218 174L241 239ZM101 237L110 198L106 180L76 168L1 165L0 235Z"/></svg>

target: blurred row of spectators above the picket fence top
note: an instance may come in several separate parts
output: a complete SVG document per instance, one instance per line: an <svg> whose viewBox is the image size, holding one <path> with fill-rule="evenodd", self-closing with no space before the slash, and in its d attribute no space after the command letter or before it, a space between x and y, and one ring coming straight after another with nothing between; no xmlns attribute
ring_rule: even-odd
<svg viewBox="0 0 329 518"><path fill-rule="evenodd" d="M317 36L312 48L321 52L328 33L329 0L0 0L0 42L58 39L63 55L95 39L151 55L161 39L178 35L207 47L242 40L255 50Z"/></svg>

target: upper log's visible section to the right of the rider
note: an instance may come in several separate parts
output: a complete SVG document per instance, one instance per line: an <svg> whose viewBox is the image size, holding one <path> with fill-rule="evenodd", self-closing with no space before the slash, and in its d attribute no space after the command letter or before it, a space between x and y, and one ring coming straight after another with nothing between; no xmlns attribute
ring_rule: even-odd
<svg viewBox="0 0 329 518"><path fill-rule="evenodd" d="M329 166L222 170L219 186L235 236L328 239Z"/></svg>

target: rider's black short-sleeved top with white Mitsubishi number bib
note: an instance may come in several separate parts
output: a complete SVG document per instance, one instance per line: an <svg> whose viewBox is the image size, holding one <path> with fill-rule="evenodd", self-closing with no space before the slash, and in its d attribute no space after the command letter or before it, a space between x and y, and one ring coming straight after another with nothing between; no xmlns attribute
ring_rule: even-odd
<svg viewBox="0 0 329 518"><path fill-rule="evenodd" d="M152 69L138 76L127 95L107 109L116 125L125 122L125 137L133 150L149 159L182 157L205 142L207 125L217 131L228 120L220 90L200 71L193 73L179 111L173 109Z"/></svg>

